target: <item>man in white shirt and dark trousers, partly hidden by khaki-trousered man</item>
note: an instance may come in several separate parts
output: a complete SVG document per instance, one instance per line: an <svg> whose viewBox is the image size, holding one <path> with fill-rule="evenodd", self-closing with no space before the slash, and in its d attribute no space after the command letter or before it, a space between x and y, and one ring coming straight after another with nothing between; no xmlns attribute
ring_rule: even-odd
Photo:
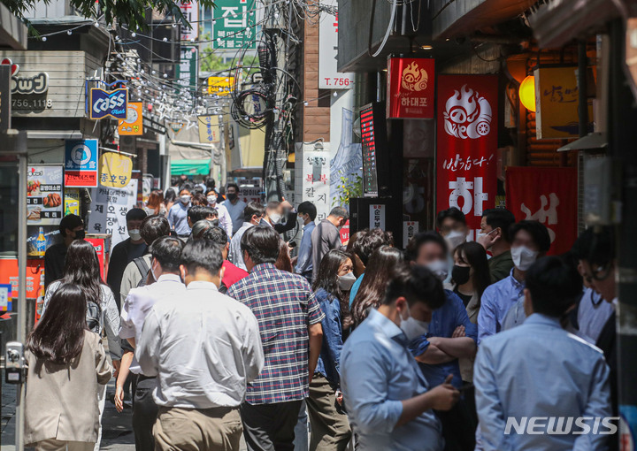
<svg viewBox="0 0 637 451"><path fill-rule="evenodd" d="M150 274L156 283L145 287L133 288L122 305L119 337L128 340L131 350L142 335L142 325L150 309L159 300L181 299L186 294L186 286L180 279L180 255L183 241L165 236L150 246ZM157 405L152 399L152 391L157 386L155 377L142 374L139 363L132 352L122 356L119 371L115 404L118 410L123 408L124 383L130 370L135 377L133 403L133 432L137 451L153 451L155 439L152 428L157 420Z"/></svg>

